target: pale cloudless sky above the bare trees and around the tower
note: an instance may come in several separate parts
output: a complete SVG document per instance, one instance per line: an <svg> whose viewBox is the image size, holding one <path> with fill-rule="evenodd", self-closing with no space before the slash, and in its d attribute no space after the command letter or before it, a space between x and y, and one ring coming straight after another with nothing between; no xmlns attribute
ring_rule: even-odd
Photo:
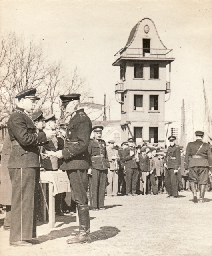
<svg viewBox="0 0 212 256"><path fill-rule="evenodd" d="M173 49L171 98L165 103L166 120L180 121L185 99L187 129L202 127L202 77L212 112L212 1L206 0L0 0L1 30L35 35L52 60L68 70L77 66L92 88L94 101L113 99L111 119L120 119L115 101L119 67L114 54L125 46L133 26L153 20L168 49ZM193 113L193 114L192 114Z"/></svg>

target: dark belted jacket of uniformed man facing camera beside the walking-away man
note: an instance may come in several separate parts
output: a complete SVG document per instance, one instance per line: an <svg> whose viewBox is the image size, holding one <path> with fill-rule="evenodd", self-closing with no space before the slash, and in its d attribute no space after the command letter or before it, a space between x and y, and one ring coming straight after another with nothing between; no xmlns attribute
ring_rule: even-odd
<svg viewBox="0 0 212 256"><path fill-rule="evenodd" d="M178 170L181 164L180 157L180 147L179 146L169 146L166 152L164 164L167 164L168 169Z"/></svg>

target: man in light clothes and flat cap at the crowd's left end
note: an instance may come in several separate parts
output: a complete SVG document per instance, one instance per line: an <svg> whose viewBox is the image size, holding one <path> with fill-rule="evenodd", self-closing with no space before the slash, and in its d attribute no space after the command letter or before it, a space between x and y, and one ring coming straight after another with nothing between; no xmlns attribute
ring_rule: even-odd
<svg viewBox="0 0 212 256"><path fill-rule="evenodd" d="M107 154L110 162L110 173L108 174L107 196L117 196L118 194L118 150L114 149L114 140L108 141Z"/></svg>

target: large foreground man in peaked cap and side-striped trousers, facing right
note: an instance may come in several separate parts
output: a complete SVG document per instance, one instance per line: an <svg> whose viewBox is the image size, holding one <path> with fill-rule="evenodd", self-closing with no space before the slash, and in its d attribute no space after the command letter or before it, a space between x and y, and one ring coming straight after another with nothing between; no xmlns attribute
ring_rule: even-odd
<svg viewBox="0 0 212 256"><path fill-rule="evenodd" d="M12 143L8 169L12 182L10 245L32 246L26 242L36 237L36 216L41 157L38 146L55 136L55 132L36 133L30 114L36 106L36 89L16 95L18 106L12 112L7 128Z"/></svg>

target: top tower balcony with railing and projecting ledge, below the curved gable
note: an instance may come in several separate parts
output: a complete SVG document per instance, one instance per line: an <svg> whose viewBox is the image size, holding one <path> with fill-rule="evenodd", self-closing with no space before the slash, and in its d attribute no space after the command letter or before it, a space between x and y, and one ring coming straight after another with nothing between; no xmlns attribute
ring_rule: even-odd
<svg viewBox="0 0 212 256"><path fill-rule="evenodd" d="M115 54L113 66L120 66L122 60L168 60L174 61L172 49L122 48Z"/></svg>

